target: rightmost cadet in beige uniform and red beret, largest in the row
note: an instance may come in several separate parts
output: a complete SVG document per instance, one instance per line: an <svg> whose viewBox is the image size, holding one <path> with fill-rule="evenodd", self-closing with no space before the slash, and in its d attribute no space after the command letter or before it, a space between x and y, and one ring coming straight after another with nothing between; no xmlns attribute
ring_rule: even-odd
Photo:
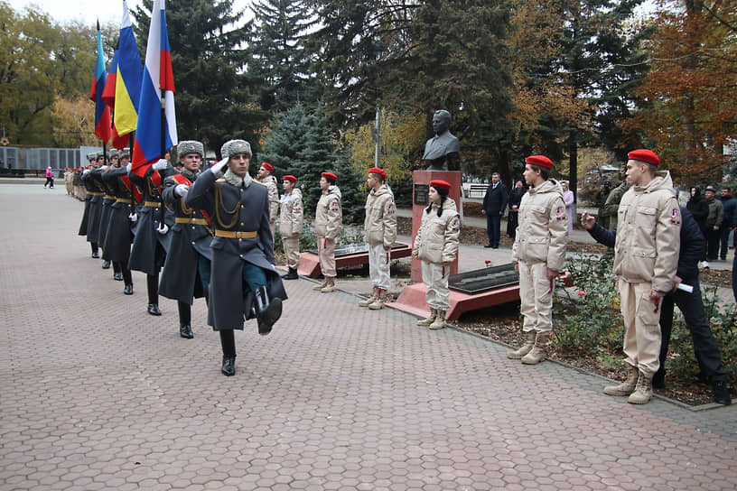
<svg viewBox="0 0 737 491"><path fill-rule="evenodd" d="M668 171L649 150L628 154L627 182L617 213L613 273L624 318L627 380L604 394L629 395L629 403L652 398L652 377L660 361L660 301L673 289L681 246L681 210Z"/></svg>

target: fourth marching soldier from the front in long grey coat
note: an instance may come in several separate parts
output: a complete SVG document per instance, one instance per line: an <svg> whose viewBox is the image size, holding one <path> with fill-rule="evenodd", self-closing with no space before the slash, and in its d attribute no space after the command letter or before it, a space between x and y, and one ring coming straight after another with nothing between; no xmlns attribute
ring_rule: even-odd
<svg viewBox="0 0 737 491"><path fill-rule="evenodd" d="M110 218L107 223L105 244L102 247L113 263L113 270L116 272L114 278L124 282L123 293L132 295L133 276L128 268L128 261L133 242L131 217L135 216L135 208L132 199L134 187L128 179L127 170L130 152L121 150L118 157L117 167L112 167L102 175L108 191L112 191L112 195L115 196L115 200L110 204Z"/></svg>

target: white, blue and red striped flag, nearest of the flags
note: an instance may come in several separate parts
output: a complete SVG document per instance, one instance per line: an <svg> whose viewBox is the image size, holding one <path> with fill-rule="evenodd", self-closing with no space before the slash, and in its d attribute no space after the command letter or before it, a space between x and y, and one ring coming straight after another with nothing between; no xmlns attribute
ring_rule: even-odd
<svg viewBox="0 0 737 491"><path fill-rule="evenodd" d="M178 143L174 114L174 75L164 0L154 0L148 29L144 76L131 171L143 177L148 167ZM162 111L163 101L163 111Z"/></svg>

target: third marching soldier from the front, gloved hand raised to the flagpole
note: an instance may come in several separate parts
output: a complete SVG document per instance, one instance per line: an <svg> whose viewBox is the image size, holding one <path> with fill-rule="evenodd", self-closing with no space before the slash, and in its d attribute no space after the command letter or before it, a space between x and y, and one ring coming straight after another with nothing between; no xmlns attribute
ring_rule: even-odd
<svg viewBox="0 0 737 491"><path fill-rule="evenodd" d="M167 152L168 154L168 152ZM148 292L147 311L151 315L161 315L159 310L159 272L166 260L171 236L169 229L174 225L173 214L163 207L161 191L163 180L173 175L174 169L165 159L153 163L144 177L129 172L131 184L138 186L143 193L142 206L138 208L135 237L131 248L128 267L146 273Z"/></svg>

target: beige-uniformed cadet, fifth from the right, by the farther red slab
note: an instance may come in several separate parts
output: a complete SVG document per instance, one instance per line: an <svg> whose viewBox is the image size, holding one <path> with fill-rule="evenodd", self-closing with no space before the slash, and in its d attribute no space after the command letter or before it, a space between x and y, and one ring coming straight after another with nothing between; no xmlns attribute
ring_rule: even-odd
<svg viewBox="0 0 737 491"><path fill-rule="evenodd" d="M313 286L313 290L323 293L335 292L335 240L341 234L343 210L341 208L341 190L335 183L338 176L332 172L322 172L320 188L322 196L317 202L313 223L317 239L317 254L320 258L323 282Z"/></svg>

